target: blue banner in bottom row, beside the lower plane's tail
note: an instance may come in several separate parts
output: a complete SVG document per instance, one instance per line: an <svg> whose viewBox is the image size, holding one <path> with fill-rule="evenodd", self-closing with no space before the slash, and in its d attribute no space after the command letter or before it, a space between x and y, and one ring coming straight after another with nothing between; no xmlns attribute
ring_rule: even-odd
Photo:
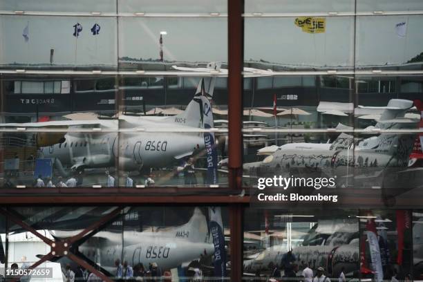
<svg viewBox="0 0 423 282"><path fill-rule="evenodd" d="M220 277L220 281L226 278L226 252L225 235L223 233L222 214L220 207L209 207L210 223L214 244L214 276Z"/></svg>

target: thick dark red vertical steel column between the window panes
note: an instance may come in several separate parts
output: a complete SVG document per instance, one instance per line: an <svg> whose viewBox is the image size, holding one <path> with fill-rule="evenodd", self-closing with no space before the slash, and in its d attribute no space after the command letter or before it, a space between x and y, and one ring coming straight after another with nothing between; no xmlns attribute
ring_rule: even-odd
<svg viewBox="0 0 423 282"><path fill-rule="evenodd" d="M244 1L227 0L228 35L228 136L229 136L229 188L242 189L243 167L243 59L244 59ZM240 282L243 276L243 205L229 207L231 229L231 279Z"/></svg>

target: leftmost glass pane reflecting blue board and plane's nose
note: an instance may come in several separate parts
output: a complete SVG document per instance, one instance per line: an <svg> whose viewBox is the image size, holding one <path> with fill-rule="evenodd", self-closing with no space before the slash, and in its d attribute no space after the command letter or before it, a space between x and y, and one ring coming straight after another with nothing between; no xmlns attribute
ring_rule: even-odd
<svg viewBox="0 0 423 282"><path fill-rule="evenodd" d="M10 188L25 185L51 194L66 193L68 187L118 186L118 133L5 133L3 138L8 140L3 153Z"/></svg>

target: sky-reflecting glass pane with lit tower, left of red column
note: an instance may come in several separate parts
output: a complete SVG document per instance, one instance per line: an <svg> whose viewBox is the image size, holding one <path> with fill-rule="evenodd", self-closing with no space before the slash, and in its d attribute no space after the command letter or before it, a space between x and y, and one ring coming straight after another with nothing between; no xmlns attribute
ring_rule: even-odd
<svg viewBox="0 0 423 282"><path fill-rule="evenodd" d="M226 18L124 17L119 24L121 68L175 71L171 66L227 62Z"/></svg>

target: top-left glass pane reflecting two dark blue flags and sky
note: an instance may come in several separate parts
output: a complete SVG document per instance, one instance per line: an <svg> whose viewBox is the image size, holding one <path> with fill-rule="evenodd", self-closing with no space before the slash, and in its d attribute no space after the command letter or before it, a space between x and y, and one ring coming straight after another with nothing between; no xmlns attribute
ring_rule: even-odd
<svg viewBox="0 0 423 282"><path fill-rule="evenodd" d="M100 26L100 32L93 35L91 28L95 24ZM77 36L73 35L75 26ZM118 39L113 18L3 15L0 33L2 66L61 69L77 66L96 70L117 66Z"/></svg>

